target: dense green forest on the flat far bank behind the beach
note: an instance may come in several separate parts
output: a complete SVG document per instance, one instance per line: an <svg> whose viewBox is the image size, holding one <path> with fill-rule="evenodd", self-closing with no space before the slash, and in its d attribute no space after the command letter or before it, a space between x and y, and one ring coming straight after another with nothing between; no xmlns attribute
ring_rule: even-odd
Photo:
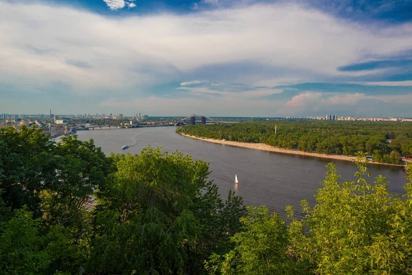
<svg viewBox="0 0 412 275"><path fill-rule="evenodd" d="M275 134L275 126L277 133ZM412 123L350 121L266 121L182 126L178 133L324 154L362 151L376 162L400 164L412 157Z"/></svg>

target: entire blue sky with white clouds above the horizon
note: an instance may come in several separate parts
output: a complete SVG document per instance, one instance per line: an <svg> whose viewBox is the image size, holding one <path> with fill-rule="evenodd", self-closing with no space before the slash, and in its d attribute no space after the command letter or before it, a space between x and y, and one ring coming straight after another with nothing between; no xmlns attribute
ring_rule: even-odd
<svg viewBox="0 0 412 275"><path fill-rule="evenodd" d="M412 0L0 0L0 113L412 117Z"/></svg>

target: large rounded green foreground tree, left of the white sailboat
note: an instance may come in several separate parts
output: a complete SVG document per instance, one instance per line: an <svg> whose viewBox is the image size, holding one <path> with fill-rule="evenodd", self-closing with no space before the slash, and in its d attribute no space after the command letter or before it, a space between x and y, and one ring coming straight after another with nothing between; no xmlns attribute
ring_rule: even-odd
<svg viewBox="0 0 412 275"><path fill-rule="evenodd" d="M240 227L241 199L223 203L202 160L150 147L111 158L117 171L98 193L90 272L198 274Z"/></svg>

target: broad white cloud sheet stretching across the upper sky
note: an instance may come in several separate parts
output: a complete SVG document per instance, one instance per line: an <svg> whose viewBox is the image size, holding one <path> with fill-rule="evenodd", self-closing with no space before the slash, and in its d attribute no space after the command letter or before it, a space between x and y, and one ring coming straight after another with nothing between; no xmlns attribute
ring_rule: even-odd
<svg viewBox="0 0 412 275"><path fill-rule="evenodd" d="M104 2L111 10L135 5L134 1L124 0ZM12 81L15 86L24 83L22 89L40 89L60 81L79 94L99 96L133 96L161 83L207 79L222 98L236 97L243 102L282 91L250 88L233 93L225 85L216 84L221 79L203 75L205 68L222 64L236 67L238 63L261 65L262 72L240 70L233 77L236 79L230 80L245 87L288 80L299 83L313 79L311 76L364 74L339 72L336 67L363 61L365 54L396 54L412 45L410 23L371 31L317 10L284 4L113 18L57 5L0 1L0 18L0 63L6 64L0 66L1 83ZM76 67L68 60L89 66ZM277 76L266 67L288 74ZM227 69L228 74L230 70ZM221 78L225 78L224 71ZM187 87L190 83L204 84L187 81L181 85ZM209 87L198 89L197 93L212 91ZM287 106L297 108L299 104L304 106L303 102L313 102L316 107L316 97L314 93L299 95ZM188 106L187 103L182 108Z"/></svg>

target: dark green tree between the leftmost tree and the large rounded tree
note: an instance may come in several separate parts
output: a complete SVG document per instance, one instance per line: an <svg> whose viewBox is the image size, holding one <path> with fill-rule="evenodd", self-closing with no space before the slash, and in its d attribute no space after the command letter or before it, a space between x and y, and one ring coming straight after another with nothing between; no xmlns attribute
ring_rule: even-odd
<svg viewBox="0 0 412 275"><path fill-rule="evenodd" d="M94 190L104 190L113 167L93 140L83 142L76 135L62 137L54 152L58 180L41 193L42 209L48 223L68 226L80 217Z"/></svg>

